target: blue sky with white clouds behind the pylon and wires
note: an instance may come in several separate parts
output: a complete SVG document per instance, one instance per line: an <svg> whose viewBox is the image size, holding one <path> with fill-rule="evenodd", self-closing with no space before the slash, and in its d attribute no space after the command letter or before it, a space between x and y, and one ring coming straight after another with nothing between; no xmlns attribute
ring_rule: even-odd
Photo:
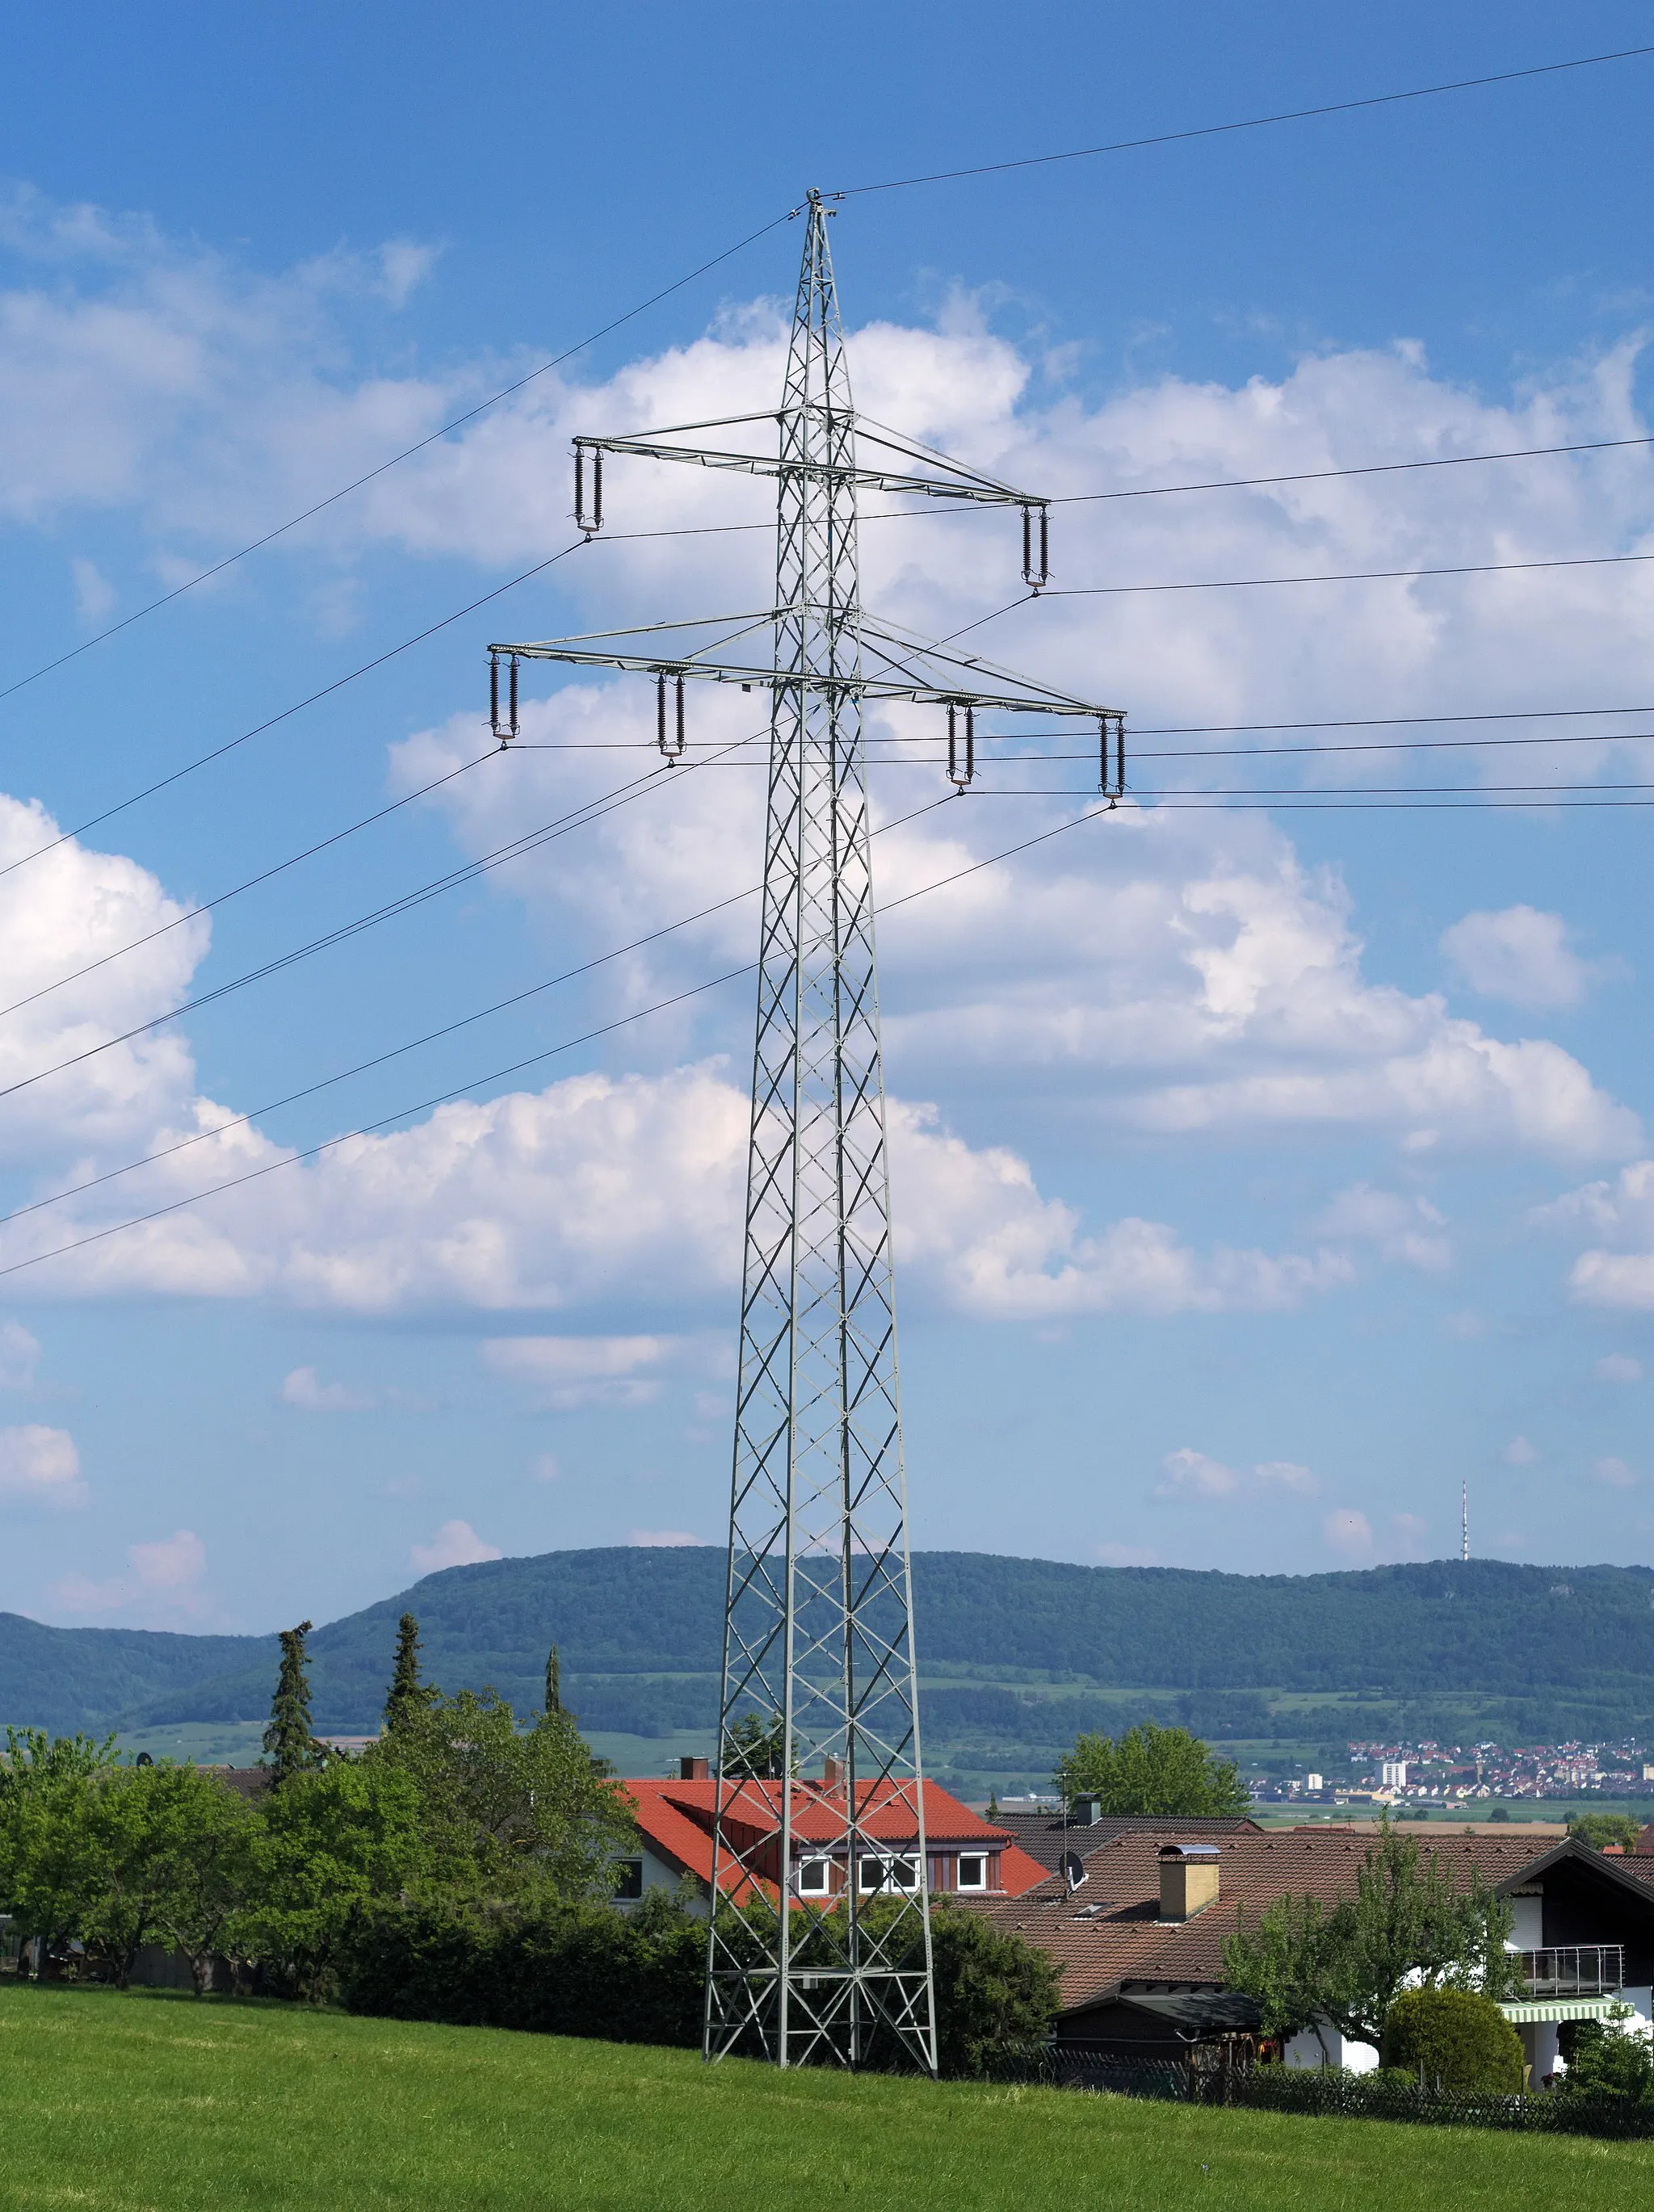
<svg viewBox="0 0 1654 2212"><path fill-rule="evenodd" d="M0 690L805 186L1524 69L1639 44L1645 15L849 7L834 29L827 55L814 18L758 9L13 22ZM1639 438L1652 73L851 195L858 398L1059 495ZM0 1606L268 1628L498 1551L719 1537L747 984L482 1077L750 958L750 905L279 1102L743 889L752 748L177 1009L646 776L646 690L544 670L526 726L564 750L484 759L482 648L763 604L765 531L575 553L106 810L568 544L573 429L767 405L796 250L767 230L0 699L0 1088L24 1084L0 1175L11 1208L53 1199L0 1225ZM610 473L613 531L763 520L750 482ZM1075 504L1055 566L1072 591L1486 571L1643 553L1652 524L1630 445ZM1011 602L1015 568L993 515L865 529L869 599L931 635ZM1650 814L1373 801L1654 783L1652 613L1627 562L1050 597L977 633L1123 703L1143 796L882 927L915 1544L1428 1557L1468 1480L1479 1551L1650 1557ZM697 743L750 739L739 708L694 701ZM1519 719L1585 708L1625 712ZM1508 719L1369 737L1614 741L1302 757L1238 748L1358 732L1227 728L1451 714ZM1190 726L1225 728L1150 734ZM1084 763L1006 759L896 823L940 796L933 757L900 761L915 730L873 732L887 900L1084 803L1048 796ZM1179 748L1212 757L1152 759ZM1216 787L1252 805L1190 805Z"/></svg>

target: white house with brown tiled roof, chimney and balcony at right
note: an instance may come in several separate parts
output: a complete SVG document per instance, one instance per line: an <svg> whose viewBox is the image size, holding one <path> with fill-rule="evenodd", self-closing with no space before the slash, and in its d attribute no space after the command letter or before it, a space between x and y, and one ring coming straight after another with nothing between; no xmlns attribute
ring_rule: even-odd
<svg viewBox="0 0 1654 2212"><path fill-rule="evenodd" d="M1256 2011L1225 1989L1225 1938L1236 1924L1256 1927L1280 1896L1325 1907L1353 1896L1373 1849L1371 1834L1322 1825L1227 1836L1192 1827L1141 1825L1081 1849L1072 1891L1048 1874L1015 1898L980 1900L997 1927L1061 1966L1059 2044L1117 2057L1256 2044ZM1603 2017L1621 2002L1650 2020L1654 1854L1612 1858L1574 1838L1535 1849L1530 1838L1490 1834L1431 1836L1426 1849L1457 1885L1477 1876L1512 1909L1510 1944L1528 1989L1504 2011L1535 2079L1557 2068L1561 2022ZM1378 2053L1327 2026L1294 2037L1285 2059L1367 2070Z"/></svg>

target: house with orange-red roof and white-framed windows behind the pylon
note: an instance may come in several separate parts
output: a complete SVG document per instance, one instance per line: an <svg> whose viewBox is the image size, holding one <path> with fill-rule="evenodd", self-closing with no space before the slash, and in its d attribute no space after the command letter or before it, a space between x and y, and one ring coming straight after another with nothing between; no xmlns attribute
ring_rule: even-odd
<svg viewBox="0 0 1654 2212"><path fill-rule="evenodd" d="M632 1778L621 1787L637 1807L637 1851L621 1860L617 1902L635 1902L650 1889L677 1889L683 1878L699 1891L701 1905L712 1896L712 1825L719 1790L723 1790L725 1823L745 1829L743 1849L763 1838L758 1880L767 1896L781 1882L781 1792L778 1781L716 1783L705 1759L683 1759L677 1781ZM827 1761L820 1781L792 1785L792 1867L787 1887L798 1902L827 1905L842 1896L849 1874L845 1843L845 1781L836 1761ZM1044 1878L1044 1867L1015 1838L938 1783L924 1783L924 1880L933 1893L960 1898L1015 1898ZM865 1893L880 1889L915 1889L918 1823L911 1801L898 1783L858 1783L856 1809L860 1827L878 1845L860 1858L858 1880ZM719 1887L741 1905L754 1893L750 1876L734 1865L719 1869Z"/></svg>

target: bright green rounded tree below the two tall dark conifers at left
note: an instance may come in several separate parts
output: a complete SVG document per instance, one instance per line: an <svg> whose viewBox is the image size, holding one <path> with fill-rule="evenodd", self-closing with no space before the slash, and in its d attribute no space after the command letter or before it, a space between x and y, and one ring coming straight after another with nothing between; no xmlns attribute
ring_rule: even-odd
<svg viewBox="0 0 1654 2212"><path fill-rule="evenodd" d="M323 1997L354 1916L416 1889L429 1869L414 1778L385 1761L332 1759L270 1792L232 1940L301 1995Z"/></svg>

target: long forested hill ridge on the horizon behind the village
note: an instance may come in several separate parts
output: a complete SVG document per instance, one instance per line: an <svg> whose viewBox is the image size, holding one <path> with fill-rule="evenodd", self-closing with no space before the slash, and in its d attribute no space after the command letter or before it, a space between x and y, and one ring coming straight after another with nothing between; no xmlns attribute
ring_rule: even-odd
<svg viewBox="0 0 1654 2212"><path fill-rule="evenodd" d="M920 1661L957 1681L1068 1681L1168 1692L1364 1692L1563 1701L1654 1717L1654 1573L1619 1566L1380 1566L1216 1575L1064 1566L991 1553L913 1559ZM321 1728L374 1725L411 1608L427 1672L540 1701L546 1646L590 1725L679 1721L719 1668L723 1553L553 1551L453 1566L312 1637ZM0 1615L0 1721L57 1730L259 1719L274 1637L42 1628ZM628 1677L655 1677L655 1683ZM677 1690L661 1681L677 1677ZM942 1692L944 1697L953 1692ZM688 1699L688 1705L685 1705ZM1581 1725L1585 1725L1581 1721ZM1632 1723L1627 1723L1632 1725ZM1641 1723L1639 1723L1641 1725Z"/></svg>

